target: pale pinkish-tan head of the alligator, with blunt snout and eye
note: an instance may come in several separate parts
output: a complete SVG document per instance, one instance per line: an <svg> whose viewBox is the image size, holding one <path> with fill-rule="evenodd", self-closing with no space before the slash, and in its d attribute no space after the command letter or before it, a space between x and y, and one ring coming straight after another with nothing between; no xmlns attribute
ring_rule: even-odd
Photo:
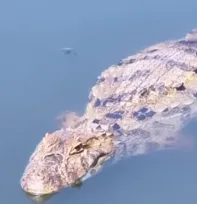
<svg viewBox="0 0 197 204"><path fill-rule="evenodd" d="M98 172L113 153L112 135L56 131L36 147L21 178L32 195L56 193Z"/></svg>

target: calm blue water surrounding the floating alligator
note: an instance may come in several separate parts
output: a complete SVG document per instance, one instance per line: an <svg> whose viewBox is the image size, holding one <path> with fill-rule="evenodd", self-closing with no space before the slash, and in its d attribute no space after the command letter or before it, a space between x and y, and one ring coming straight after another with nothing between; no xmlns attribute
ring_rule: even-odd
<svg viewBox="0 0 197 204"><path fill-rule="evenodd" d="M27 204L19 180L46 131L64 110L83 112L109 65L197 27L196 0L0 1L0 192ZM73 47L77 55L60 49ZM195 204L196 151L133 157L65 189L51 204Z"/></svg>

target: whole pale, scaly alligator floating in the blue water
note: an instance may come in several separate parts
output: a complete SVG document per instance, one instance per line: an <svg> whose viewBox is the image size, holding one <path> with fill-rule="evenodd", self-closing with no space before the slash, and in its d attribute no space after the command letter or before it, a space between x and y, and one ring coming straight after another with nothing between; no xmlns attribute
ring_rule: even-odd
<svg viewBox="0 0 197 204"><path fill-rule="evenodd" d="M109 66L83 114L66 112L30 156L20 184L32 195L80 186L108 161L183 147L197 116L197 29Z"/></svg>

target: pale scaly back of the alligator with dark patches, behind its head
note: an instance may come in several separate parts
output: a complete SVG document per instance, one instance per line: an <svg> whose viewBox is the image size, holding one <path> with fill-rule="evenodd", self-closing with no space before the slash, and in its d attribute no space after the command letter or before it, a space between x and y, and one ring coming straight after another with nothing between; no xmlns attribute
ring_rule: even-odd
<svg viewBox="0 0 197 204"><path fill-rule="evenodd" d="M196 116L197 30L150 46L110 66L89 95L92 130L111 131L132 155L177 144Z"/></svg>

